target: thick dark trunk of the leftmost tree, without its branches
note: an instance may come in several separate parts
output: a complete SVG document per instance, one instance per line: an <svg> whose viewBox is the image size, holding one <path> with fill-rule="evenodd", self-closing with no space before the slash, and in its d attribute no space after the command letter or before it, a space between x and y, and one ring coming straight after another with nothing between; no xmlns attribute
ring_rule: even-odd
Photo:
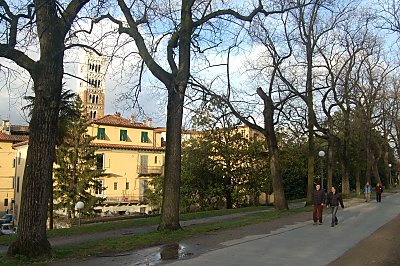
<svg viewBox="0 0 400 266"><path fill-rule="evenodd" d="M21 197L17 239L10 245L9 255L29 258L51 255L46 221L62 87L62 58L60 53L40 64L37 75L32 76L35 102L22 183L22 194L29 196Z"/></svg>

